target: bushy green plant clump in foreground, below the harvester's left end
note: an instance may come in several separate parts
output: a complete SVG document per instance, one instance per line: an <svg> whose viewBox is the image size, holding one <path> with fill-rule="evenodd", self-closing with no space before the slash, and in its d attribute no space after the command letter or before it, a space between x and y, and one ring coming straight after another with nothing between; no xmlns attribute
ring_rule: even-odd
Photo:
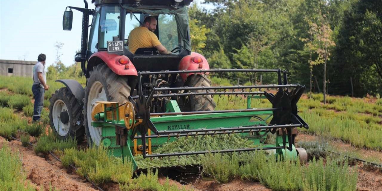
<svg viewBox="0 0 382 191"><path fill-rule="evenodd" d="M120 158L109 156L108 152L103 147L95 146L86 151L65 149L61 160L64 167L75 165L80 175L88 176L95 183L128 183L133 176L131 161L123 162Z"/></svg>

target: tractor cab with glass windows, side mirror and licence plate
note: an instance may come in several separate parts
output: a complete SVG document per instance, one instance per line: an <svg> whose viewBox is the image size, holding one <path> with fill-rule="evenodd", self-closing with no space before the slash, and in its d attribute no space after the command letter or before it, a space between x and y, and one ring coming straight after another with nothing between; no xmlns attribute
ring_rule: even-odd
<svg viewBox="0 0 382 191"><path fill-rule="evenodd" d="M84 13L83 42L81 53L76 55L77 62L83 62L84 73L88 76L94 63L89 59L97 52L108 52L128 57L137 71L179 70L183 57L191 55L188 12L186 6L193 0L92 0L94 10L70 8L65 11L63 29L71 29L73 14L71 9ZM69 12L69 13L68 13ZM92 15L89 40L87 42L87 19ZM147 16L157 19L154 34L161 44L171 51L170 55L160 55L155 47L141 47L135 53L129 50L130 32L142 26ZM68 26L70 25L70 28ZM101 58L101 60L103 60ZM85 66L86 61L87 66ZM93 60L94 61L94 60ZM95 59L96 62L102 62ZM105 62L105 60L103 60ZM95 63L98 64L98 63ZM90 67L90 68L89 68Z"/></svg>

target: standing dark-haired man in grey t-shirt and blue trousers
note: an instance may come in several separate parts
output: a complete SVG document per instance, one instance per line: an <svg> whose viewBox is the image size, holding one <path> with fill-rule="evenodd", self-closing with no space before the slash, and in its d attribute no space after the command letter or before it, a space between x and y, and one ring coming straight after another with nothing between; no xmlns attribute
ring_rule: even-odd
<svg viewBox="0 0 382 191"><path fill-rule="evenodd" d="M47 78L45 75L45 54L40 54L37 58L36 65L33 67L33 85L32 92L34 97L33 107L33 122L40 120L42 107L44 106L44 93L49 89L46 84Z"/></svg>

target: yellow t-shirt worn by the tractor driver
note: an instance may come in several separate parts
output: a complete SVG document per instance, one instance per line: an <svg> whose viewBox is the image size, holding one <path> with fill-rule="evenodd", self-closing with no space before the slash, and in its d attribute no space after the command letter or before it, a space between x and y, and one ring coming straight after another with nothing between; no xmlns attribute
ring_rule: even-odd
<svg viewBox="0 0 382 191"><path fill-rule="evenodd" d="M129 50L133 54L139 48L154 48L161 45L158 37L154 32L149 31L146 27L137 27L129 34Z"/></svg>

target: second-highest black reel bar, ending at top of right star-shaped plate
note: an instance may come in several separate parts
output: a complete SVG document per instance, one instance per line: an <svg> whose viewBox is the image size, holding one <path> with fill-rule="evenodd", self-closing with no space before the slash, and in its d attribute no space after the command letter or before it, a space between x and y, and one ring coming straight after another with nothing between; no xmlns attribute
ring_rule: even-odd
<svg viewBox="0 0 382 191"><path fill-rule="evenodd" d="M211 87L153 87L154 91L172 91L172 90L207 90L207 89L249 89L249 88L283 88L283 87L297 87L297 84L287 85L255 85L255 86L211 86Z"/></svg>

